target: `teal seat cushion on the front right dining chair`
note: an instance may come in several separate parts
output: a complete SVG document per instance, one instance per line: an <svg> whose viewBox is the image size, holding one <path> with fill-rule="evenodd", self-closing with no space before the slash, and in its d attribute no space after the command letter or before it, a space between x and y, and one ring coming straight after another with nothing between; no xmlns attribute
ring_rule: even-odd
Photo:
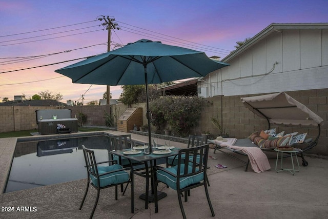
<svg viewBox="0 0 328 219"><path fill-rule="evenodd" d="M183 173L183 170L185 169L185 165L181 164L181 168L180 168L180 173ZM170 167L170 168L166 168L166 170L170 171L173 174L177 174L177 170L178 170L178 166L174 166L174 167ZM188 166L188 173L192 172L192 167ZM171 187L174 190L177 190L177 179L176 177L162 171L162 170L157 170L156 171L156 176L157 179L160 182L163 182L165 184L167 184L169 187ZM204 180L204 174L203 173L199 173L197 175L193 175L193 176L188 176L188 177L181 177L180 178L180 189L183 189L191 184L194 183L199 183L201 181Z"/></svg>

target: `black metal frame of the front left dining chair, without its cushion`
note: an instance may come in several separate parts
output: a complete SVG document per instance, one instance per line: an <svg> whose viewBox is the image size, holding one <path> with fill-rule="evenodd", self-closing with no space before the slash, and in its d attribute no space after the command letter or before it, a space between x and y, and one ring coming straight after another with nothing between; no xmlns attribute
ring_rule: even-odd
<svg viewBox="0 0 328 219"><path fill-rule="evenodd" d="M92 218L92 216L94 214L94 211L96 210L96 207L97 207L97 204L98 204L99 194L100 194L101 189L106 189L106 188L109 188L109 187L115 187L115 200L117 200L117 186L118 185L123 185L125 183L127 183L127 185L128 185L130 183L130 185L131 185L131 213L134 213L133 168L126 167L126 168L122 168L122 169L113 170L113 171L110 171L110 172L99 174L97 165L105 164L105 163L108 163L109 165L114 165L117 162L110 160L110 161L97 163L95 155L94 155L94 151L90 150L90 149L87 149L84 145L82 145L82 147L83 147L83 153L84 153L84 158L85 158L87 172L88 172L88 183L87 183L87 188L86 188L86 191L85 191L85 194L84 194L84 197L83 197L83 200L80 204L79 209L81 210L81 208L84 204L84 201L86 199L86 196L87 196L87 193L88 193L88 190L89 190L89 185L91 185L92 187L94 187L97 190L96 201L94 203L94 206L93 206L93 209L92 209L92 212L91 212L91 215L90 215L90 218ZM130 177L129 177L129 180L127 182L119 183L119 184L111 184L111 185L107 185L107 186L103 186L103 187L100 186L100 177L101 176L109 174L109 173L119 172L119 171L130 171ZM90 179L91 176L94 176L94 177L97 178L97 185L93 184L93 182ZM125 188L125 190L126 189L127 189L127 187ZM124 192L125 192L125 190L124 190ZM124 195L124 193L123 193L123 195Z"/></svg>

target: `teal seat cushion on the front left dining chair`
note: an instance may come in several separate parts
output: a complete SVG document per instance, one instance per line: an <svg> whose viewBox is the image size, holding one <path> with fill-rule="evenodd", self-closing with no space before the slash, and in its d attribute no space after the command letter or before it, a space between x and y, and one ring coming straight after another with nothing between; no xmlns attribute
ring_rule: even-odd
<svg viewBox="0 0 328 219"><path fill-rule="evenodd" d="M112 166L98 166L98 173L103 174L106 172L110 172L113 170L119 170L123 167L121 165L115 164ZM97 177L91 176L92 183L97 185ZM100 176L100 187L112 185L112 184L119 184L129 181L129 173L126 171L118 171L114 173L109 173L103 176Z"/></svg>

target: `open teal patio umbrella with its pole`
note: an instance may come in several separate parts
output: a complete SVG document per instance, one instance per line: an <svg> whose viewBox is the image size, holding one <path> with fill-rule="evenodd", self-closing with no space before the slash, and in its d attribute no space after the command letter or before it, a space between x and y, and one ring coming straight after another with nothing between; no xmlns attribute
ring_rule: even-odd
<svg viewBox="0 0 328 219"><path fill-rule="evenodd" d="M140 39L55 72L79 84L146 85L146 116L151 151L148 84L206 76L227 65L210 59L204 52Z"/></svg>

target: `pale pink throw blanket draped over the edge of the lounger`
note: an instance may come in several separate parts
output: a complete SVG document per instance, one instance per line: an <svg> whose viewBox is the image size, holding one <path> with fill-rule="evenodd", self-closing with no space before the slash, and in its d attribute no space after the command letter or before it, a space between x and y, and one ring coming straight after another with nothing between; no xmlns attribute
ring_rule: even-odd
<svg viewBox="0 0 328 219"><path fill-rule="evenodd" d="M243 153L247 154L250 159L252 169L256 173L264 172L266 170L271 169L267 155L265 155L260 148L234 146L234 144L237 141L237 138L226 138L226 139L228 140L227 142L216 141L216 140L214 140L213 142L215 142L215 144L220 145L221 147L228 147L233 150L240 150Z"/></svg>

